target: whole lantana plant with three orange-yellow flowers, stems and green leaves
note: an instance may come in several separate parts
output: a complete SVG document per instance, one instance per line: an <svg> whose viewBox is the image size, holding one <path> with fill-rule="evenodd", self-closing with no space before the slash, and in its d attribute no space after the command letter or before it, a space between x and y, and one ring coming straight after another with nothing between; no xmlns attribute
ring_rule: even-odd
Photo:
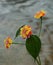
<svg viewBox="0 0 53 65"><path fill-rule="evenodd" d="M25 41L26 49L29 52L29 54L34 58L34 60L37 61L38 65L41 65L41 60L40 60L40 56L39 56L39 53L41 51L40 33L41 33L41 29L42 29L42 18L45 15L45 13L46 12L44 10L41 10L34 15L34 18L41 20L39 36L33 34L31 26L22 25L17 30L15 38L14 38L14 39L16 39L16 37L18 37L20 35L23 39L26 39L26 41ZM4 44L5 44L6 48L9 48L11 46L11 44L19 44L19 42L18 43L13 42L10 37L7 37L4 40Z"/></svg>

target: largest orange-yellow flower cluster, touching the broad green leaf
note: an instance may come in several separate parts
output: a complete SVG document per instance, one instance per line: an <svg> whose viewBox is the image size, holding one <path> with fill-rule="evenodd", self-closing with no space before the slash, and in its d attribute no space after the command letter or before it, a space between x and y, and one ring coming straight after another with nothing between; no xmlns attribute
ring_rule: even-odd
<svg viewBox="0 0 53 65"><path fill-rule="evenodd" d="M20 29L20 35L25 39L25 38L29 38L30 35L32 34L32 30L31 30L31 27L28 26L28 25L25 25L23 26L21 29Z"/></svg>

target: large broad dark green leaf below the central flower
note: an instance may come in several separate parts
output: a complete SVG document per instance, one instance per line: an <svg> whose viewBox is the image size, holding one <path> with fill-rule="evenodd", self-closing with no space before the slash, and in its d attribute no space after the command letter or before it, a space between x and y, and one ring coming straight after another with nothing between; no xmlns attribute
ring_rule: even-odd
<svg viewBox="0 0 53 65"><path fill-rule="evenodd" d="M26 39L26 49L30 55L36 60L41 49L41 40L36 35L31 35L30 38Z"/></svg>

